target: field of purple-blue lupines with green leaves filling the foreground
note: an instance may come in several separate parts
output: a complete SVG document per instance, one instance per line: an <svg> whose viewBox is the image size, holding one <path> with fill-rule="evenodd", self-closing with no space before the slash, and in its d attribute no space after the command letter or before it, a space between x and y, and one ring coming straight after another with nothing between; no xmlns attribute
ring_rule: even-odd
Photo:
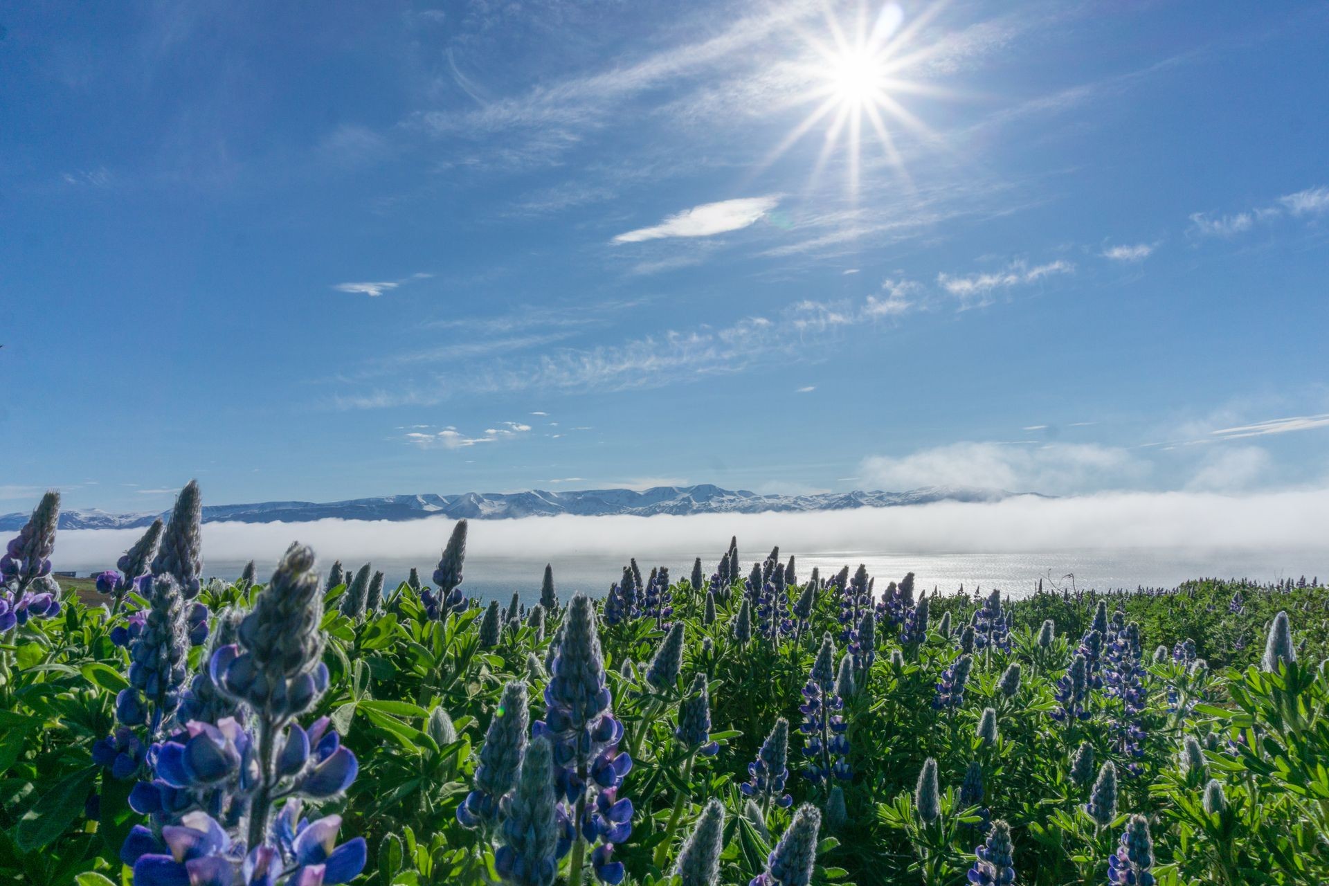
<svg viewBox="0 0 1329 886"><path fill-rule="evenodd" d="M190 484L89 606L57 510L0 559L5 882L1329 882L1318 579L1011 602L731 541L525 607L465 521L429 582L205 579Z"/></svg>

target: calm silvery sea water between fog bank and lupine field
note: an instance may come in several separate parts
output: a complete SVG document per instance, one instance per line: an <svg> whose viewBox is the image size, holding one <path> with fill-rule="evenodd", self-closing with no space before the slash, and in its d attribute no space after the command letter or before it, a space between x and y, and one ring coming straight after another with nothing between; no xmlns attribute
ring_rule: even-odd
<svg viewBox="0 0 1329 886"><path fill-rule="evenodd" d="M1185 579L1249 578L1255 580L1278 580L1288 576L1305 575L1308 579L1318 575L1329 578L1329 550L1326 549L1259 549L1259 550L1212 550L1212 549L1119 549L1119 550L1061 550L1042 553L928 553L896 554L874 551L825 551L825 550L783 550L781 559L796 558L799 580L807 579L813 567L829 575L841 566L857 567L864 563L868 574L884 587L889 580L898 580L905 573L913 571L916 586L930 591L953 592L961 586L966 591L977 588L1001 588L1011 596L1031 594L1042 579L1045 588L1135 588L1172 587ZM742 555L742 551L740 551ZM764 553L762 554L764 557ZM522 602L540 599L540 582L545 563L554 569L554 584L558 595L567 599L575 591L603 595L609 586L618 580L627 557L569 555L552 561L530 559L518 555L468 555L464 569L462 587L472 596L481 599L501 599L508 602L516 591ZM679 551L641 551L637 563L643 574L655 566L667 566L674 580L687 578L692 571L692 557ZM323 562L327 567L331 563ZM383 570L389 587L405 580L411 566L417 566L421 580L429 582L433 562L379 561L375 569ZM275 566L274 562L259 562L259 575L266 578ZM348 565L352 569L359 563ZM715 569L714 557L702 557L702 567L707 576ZM752 567L751 554L744 562L744 571ZM235 578L243 569L238 561L209 561L205 563L207 575Z"/></svg>

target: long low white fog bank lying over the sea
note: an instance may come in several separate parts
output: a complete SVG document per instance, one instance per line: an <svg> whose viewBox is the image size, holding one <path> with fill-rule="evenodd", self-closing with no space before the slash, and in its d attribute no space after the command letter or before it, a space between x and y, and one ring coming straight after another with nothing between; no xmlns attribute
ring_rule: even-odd
<svg viewBox="0 0 1329 886"><path fill-rule="evenodd" d="M938 502L813 514L695 517L532 517L472 521L466 553L477 559L560 559L583 555L657 558L676 553L710 562L738 534L752 554L1041 553L1147 549L1322 550L1329 490L1220 495L1204 491L1111 493L1078 498L1021 495L993 503ZM274 563L291 541L334 558L433 563L452 521L322 519L310 523L206 523L207 562ZM105 569L142 530L62 530L57 569ZM848 554L847 554L848 557ZM1217 566L1216 566L1217 569ZM209 573L210 574L210 573ZM481 578L480 575L476 576ZM613 576L609 576L613 578ZM606 578L606 580L609 580Z"/></svg>

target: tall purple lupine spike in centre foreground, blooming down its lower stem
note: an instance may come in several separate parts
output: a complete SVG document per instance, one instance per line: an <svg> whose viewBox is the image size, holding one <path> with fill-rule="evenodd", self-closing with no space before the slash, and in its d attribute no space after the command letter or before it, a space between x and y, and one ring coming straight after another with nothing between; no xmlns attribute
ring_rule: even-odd
<svg viewBox="0 0 1329 886"><path fill-rule="evenodd" d="M623 725L610 711L613 695L605 683L595 610L583 594L567 606L552 664L545 720L536 721L533 735L553 745L557 784L574 809L578 840L599 843L591 853L595 875L617 883L623 865L611 861L610 853L614 842L631 833L633 816L631 801L619 798L617 790L633 758L618 751Z"/></svg>

